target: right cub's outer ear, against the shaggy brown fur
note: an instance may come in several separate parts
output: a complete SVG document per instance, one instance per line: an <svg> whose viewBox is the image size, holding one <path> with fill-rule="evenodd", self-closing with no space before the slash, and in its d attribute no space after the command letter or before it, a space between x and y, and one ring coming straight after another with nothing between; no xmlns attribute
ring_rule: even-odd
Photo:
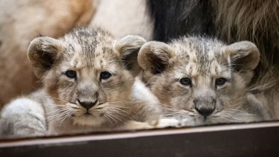
<svg viewBox="0 0 279 157"><path fill-rule="evenodd" d="M259 64L260 52L255 44L241 41L225 47L225 54L236 71L253 70Z"/></svg>

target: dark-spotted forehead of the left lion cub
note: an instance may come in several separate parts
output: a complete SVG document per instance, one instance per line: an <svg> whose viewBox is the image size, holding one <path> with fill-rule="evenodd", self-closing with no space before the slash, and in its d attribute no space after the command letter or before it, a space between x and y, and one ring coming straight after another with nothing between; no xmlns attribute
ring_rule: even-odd
<svg viewBox="0 0 279 157"><path fill-rule="evenodd" d="M102 68L118 56L113 36L101 29L73 30L63 41L67 51L64 58L77 68Z"/></svg>

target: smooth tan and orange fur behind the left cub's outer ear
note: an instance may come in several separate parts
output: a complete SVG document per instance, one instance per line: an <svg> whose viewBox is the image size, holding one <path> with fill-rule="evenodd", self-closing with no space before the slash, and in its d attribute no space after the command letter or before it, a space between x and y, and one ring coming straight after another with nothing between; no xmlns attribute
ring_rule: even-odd
<svg viewBox="0 0 279 157"><path fill-rule="evenodd" d="M31 39L38 35L60 37L75 26L88 25L94 0L2 0L0 2L0 108L38 87L27 59Z"/></svg>

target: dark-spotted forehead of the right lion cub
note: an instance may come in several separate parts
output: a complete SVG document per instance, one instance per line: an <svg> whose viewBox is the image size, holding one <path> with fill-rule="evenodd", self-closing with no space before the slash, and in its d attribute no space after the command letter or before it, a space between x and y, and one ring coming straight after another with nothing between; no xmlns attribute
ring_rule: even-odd
<svg viewBox="0 0 279 157"><path fill-rule="evenodd" d="M218 75L225 62L224 44L201 37L181 38L171 44L175 50L175 63L187 75Z"/></svg>

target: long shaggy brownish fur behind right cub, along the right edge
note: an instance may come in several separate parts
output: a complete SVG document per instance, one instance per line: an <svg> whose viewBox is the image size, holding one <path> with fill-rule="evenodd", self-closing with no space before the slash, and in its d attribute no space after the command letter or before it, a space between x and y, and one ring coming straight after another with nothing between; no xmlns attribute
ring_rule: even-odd
<svg viewBox="0 0 279 157"><path fill-rule="evenodd" d="M279 1L217 0L214 24L218 37L233 41L253 41L260 50L261 62L256 81L249 87L258 103L269 110L271 119L278 119L279 95Z"/></svg>

